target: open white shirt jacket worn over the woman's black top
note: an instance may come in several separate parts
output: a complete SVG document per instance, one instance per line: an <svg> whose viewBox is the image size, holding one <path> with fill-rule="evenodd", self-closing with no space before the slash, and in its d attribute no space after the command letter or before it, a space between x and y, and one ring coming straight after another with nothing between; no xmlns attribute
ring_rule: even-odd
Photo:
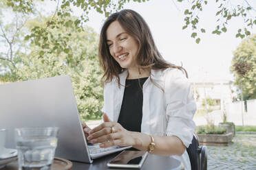
<svg viewBox="0 0 256 170"><path fill-rule="evenodd" d="M102 111L111 121L118 121L127 75L127 70L120 73L120 88L116 79L104 86ZM177 136L189 147L195 130L193 115L196 111L189 80L182 71L172 68L151 70L151 78L162 89L153 84L150 78L143 84L141 132L157 136ZM186 151L182 156L173 157L182 161L184 169L191 169Z"/></svg>

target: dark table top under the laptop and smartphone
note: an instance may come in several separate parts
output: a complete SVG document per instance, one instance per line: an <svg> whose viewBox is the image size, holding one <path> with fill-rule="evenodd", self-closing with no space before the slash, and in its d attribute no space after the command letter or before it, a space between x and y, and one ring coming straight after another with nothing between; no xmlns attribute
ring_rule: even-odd
<svg viewBox="0 0 256 170"><path fill-rule="evenodd" d="M109 156L105 156L103 158L98 158L94 160L92 164L87 164L83 162L74 162L73 163L73 169L74 170L110 170L111 168L107 167L107 162L109 162L111 159L113 159L118 153L111 154ZM180 170L182 169L182 164L179 160L176 160L174 158L171 158L169 156L156 156L149 154L147 156L147 159L145 160L141 170ZM118 170L118 169L114 169ZM122 169L125 170L125 169ZM131 169L129 169L131 170Z"/></svg>

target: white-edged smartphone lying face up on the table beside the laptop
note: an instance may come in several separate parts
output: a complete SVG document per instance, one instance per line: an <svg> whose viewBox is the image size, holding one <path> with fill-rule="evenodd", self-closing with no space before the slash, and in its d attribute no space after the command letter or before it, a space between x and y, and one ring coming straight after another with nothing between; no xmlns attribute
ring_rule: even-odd
<svg viewBox="0 0 256 170"><path fill-rule="evenodd" d="M140 169L147 158L147 151L122 151L107 167Z"/></svg>

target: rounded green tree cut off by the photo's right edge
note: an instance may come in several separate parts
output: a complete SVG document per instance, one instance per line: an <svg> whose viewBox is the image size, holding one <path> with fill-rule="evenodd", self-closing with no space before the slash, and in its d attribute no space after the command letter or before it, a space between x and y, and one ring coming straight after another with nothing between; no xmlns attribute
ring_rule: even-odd
<svg viewBox="0 0 256 170"><path fill-rule="evenodd" d="M233 52L231 72L234 84L242 84L243 99L256 99L256 34L242 40Z"/></svg>

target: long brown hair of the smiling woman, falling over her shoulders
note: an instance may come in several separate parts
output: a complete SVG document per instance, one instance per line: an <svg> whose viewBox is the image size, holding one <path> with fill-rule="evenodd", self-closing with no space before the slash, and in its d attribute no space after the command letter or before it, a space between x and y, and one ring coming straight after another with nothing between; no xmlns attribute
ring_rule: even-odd
<svg viewBox="0 0 256 170"><path fill-rule="evenodd" d="M136 58L136 62L139 66L138 71L140 71L140 69L167 69L171 67L182 70L187 77L186 70L182 68L182 66L175 66L162 58L156 48L149 26L142 16L134 10L121 10L120 12L111 14L111 16L107 18L100 32L98 57L100 66L104 71L101 79L103 84L105 82L111 82L113 78L116 77L118 86L120 86L120 77L118 75L124 71L111 56L107 45L107 28L114 21L118 21L127 34L133 36L138 41L137 56L140 56Z"/></svg>

